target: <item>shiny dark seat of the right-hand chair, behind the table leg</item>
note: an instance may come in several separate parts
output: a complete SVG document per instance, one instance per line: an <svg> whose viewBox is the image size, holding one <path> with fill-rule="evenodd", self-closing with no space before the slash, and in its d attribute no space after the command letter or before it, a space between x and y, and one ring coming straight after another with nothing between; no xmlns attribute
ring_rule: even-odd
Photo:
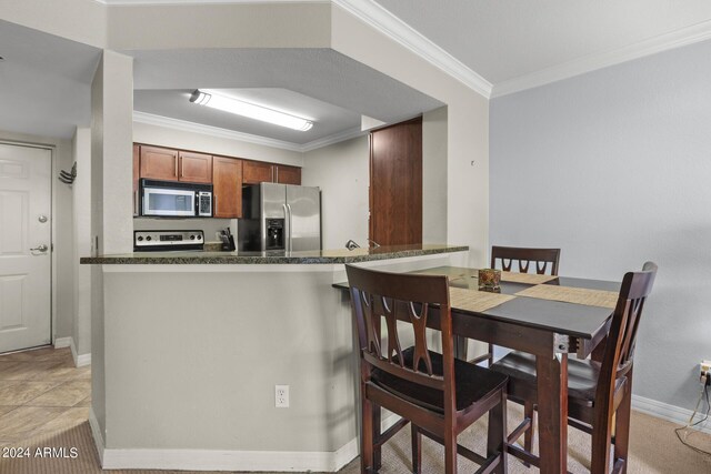
<svg viewBox="0 0 711 474"><path fill-rule="evenodd" d="M491 365L492 371L508 375L513 383L535 387L535 356L513 351ZM568 360L568 396L592 405L600 375L600 363L590 360Z"/></svg>

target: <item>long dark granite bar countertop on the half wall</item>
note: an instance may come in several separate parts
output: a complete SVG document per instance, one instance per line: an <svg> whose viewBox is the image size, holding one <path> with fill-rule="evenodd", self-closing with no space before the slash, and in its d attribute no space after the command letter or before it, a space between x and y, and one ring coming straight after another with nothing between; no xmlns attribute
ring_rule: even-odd
<svg viewBox="0 0 711 474"><path fill-rule="evenodd" d="M392 245L377 249L316 250L309 252L136 252L116 255L83 256L83 264L317 264L357 263L462 252L467 245L422 244Z"/></svg>

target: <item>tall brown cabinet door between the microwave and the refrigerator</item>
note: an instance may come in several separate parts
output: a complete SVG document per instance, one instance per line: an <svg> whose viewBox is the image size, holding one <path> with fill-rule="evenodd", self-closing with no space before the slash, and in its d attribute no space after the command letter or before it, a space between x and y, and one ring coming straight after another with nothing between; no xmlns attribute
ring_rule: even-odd
<svg viewBox="0 0 711 474"><path fill-rule="evenodd" d="M212 158L212 199L214 218L242 216L242 161L233 158Z"/></svg>

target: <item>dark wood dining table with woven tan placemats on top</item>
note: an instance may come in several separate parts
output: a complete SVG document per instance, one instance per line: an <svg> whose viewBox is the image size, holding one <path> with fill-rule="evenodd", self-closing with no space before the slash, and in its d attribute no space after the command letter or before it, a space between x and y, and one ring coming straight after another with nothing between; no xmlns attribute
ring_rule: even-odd
<svg viewBox="0 0 711 474"><path fill-rule="evenodd" d="M477 269L438 266L411 273L448 275L450 288L478 290ZM542 284L620 291L618 282L568 276ZM348 283L333 286L348 289ZM501 294L515 297L482 311L458 307L452 301L452 330L459 336L460 359L467 359L467 339L535 355L540 471L560 474L567 472L568 465L568 354L581 359L590 355L607 335L613 310L517 295L531 286L535 284L502 281ZM431 326L438 329L438 324L439 317L432 319Z"/></svg>

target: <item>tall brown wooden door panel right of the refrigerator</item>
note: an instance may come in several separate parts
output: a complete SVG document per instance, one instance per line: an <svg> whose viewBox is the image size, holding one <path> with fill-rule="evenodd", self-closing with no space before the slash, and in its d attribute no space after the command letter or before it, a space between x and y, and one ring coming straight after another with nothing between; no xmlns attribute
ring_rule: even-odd
<svg viewBox="0 0 711 474"><path fill-rule="evenodd" d="M422 119L370 133L370 239L422 243Z"/></svg>

